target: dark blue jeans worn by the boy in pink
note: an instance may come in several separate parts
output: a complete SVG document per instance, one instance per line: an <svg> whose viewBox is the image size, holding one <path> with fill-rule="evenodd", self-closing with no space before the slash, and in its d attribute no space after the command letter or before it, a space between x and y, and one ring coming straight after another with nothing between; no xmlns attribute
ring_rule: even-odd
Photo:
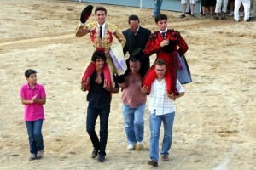
<svg viewBox="0 0 256 170"><path fill-rule="evenodd" d="M39 150L44 150L44 140L42 135L43 120L26 121L30 153L37 154Z"/></svg>

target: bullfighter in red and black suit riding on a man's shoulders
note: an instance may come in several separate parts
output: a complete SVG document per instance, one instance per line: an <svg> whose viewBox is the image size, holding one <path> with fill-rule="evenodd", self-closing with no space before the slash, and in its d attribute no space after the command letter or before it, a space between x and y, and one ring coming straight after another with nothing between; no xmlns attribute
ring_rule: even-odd
<svg viewBox="0 0 256 170"><path fill-rule="evenodd" d="M156 59L166 61L166 89L169 94L177 94L177 53L183 55L189 47L178 31L167 29L166 14L158 14L154 20L159 31L154 31L151 34L144 53L147 56L156 53ZM143 87L148 88L148 92L150 92L150 86L155 78L156 73L154 65L152 65L143 80Z"/></svg>

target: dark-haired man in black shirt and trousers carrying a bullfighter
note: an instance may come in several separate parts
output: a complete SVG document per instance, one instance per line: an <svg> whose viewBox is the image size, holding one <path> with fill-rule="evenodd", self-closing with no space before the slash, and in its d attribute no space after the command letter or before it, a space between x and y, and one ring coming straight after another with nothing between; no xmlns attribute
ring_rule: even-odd
<svg viewBox="0 0 256 170"><path fill-rule="evenodd" d="M89 102L86 117L86 131L93 144L91 157L95 158L98 154L98 161L105 161L106 145L108 139L108 116L110 112L111 94L119 92L119 84L115 81L114 88L104 79L103 66L106 62L106 56L102 51L95 51L91 61L96 67L96 71L87 80L82 80L81 89L86 91L90 87L87 95ZM95 131L97 117L100 116L100 139Z"/></svg>

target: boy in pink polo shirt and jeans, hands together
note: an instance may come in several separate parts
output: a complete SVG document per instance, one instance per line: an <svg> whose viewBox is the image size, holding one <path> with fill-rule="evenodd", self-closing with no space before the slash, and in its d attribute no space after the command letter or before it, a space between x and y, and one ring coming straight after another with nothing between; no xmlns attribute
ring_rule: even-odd
<svg viewBox="0 0 256 170"><path fill-rule="evenodd" d="M26 129L30 146L29 160L40 159L44 155L44 140L42 126L44 120L44 107L46 94L44 86L37 83L37 71L25 71L26 81L20 89L21 103L25 105Z"/></svg>

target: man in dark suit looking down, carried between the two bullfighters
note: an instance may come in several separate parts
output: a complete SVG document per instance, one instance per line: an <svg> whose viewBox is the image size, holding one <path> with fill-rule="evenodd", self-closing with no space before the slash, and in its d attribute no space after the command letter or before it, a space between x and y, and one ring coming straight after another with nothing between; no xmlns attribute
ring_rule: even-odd
<svg viewBox="0 0 256 170"><path fill-rule="evenodd" d="M137 15L132 14L129 16L128 23L130 28L127 30L123 31L123 35L125 36L126 39L126 44L124 47L124 54L129 52L130 56L132 56L132 52L137 49L137 48L142 48L144 49L147 42L148 42L148 37L151 35L151 31L143 28L140 26L140 20ZM127 71L125 72L125 75L130 72L130 66L129 66L129 59L127 59ZM145 76L146 72L150 68L150 61L149 57L144 57L143 60L141 60L141 71L140 75L143 79ZM119 78L119 81L122 82L123 78Z"/></svg>

